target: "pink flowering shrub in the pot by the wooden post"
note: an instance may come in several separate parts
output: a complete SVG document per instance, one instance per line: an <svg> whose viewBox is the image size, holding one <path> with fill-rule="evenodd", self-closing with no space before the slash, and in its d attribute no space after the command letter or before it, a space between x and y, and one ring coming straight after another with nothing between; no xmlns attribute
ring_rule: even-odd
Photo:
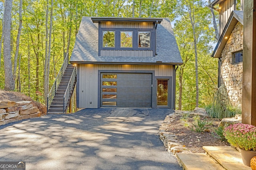
<svg viewBox="0 0 256 170"><path fill-rule="evenodd" d="M256 151L256 127L254 125L243 123L229 125L224 129L224 136L235 147Z"/></svg>

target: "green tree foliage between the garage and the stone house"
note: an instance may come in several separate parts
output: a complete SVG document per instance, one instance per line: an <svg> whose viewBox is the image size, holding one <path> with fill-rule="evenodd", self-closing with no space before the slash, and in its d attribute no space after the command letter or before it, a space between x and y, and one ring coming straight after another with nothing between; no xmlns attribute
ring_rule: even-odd
<svg viewBox="0 0 256 170"><path fill-rule="evenodd" d="M212 42L214 41L210 10L202 0L194 0L193 2L198 52L199 107L203 107L212 101L212 96L216 91L218 61L210 58L213 48ZM185 6L184 0L180 0L179 10L176 11L180 19L176 20L174 24L176 41L184 61L184 65L180 66L176 72L176 106L179 106L179 92L180 87L182 87L180 109L192 110L196 106L194 37L189 12Z"/></svg>

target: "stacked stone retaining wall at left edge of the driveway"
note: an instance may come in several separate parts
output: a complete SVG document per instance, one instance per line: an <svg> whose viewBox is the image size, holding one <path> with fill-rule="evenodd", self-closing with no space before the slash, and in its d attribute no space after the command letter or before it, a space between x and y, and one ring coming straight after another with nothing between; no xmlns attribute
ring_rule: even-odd
<svg viewBox="0 0 256 170"><path fill-rule="evenodd" d="M32 101L0 101L0 125L40 115L40 110L33 106Z"/></svg>

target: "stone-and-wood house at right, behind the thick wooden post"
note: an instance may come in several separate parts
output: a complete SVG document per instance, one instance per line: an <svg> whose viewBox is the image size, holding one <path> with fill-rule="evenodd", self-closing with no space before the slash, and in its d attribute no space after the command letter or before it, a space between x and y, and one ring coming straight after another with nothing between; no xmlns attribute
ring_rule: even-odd
<svg viewBox="0 0 256 170"><path fill-rule="evenodd" d="M218 87L224 84L233 106L242 107L243 0L214 0L219 12L219 39L212 53L218 58Z"/></svg>

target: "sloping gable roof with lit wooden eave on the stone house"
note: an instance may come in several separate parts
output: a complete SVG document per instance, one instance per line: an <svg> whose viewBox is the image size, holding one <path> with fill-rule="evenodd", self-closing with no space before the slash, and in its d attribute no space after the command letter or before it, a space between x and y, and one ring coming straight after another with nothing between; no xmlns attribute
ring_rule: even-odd
<svg viewBox="0 0 256 170"><path fill-rule="evenodd" d="M216 44L216 47L212 53L212 57L220 58L222 50L224 49L230 34L232 33L235 25L240 22L244 25L244 11L232 11L230 17L228 18L228 22L226 23L222 34ZM227 37L227 38L226 38Z"/></svg>

